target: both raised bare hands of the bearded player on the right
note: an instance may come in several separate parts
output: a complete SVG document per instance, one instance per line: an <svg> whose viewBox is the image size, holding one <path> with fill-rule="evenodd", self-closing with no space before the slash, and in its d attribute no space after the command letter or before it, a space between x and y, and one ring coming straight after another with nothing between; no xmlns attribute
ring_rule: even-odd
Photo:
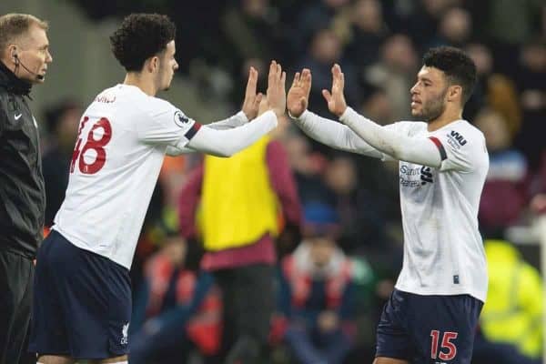
<svg viewBox="0 0 546 364"><path fill-rule="evenodd" d="M338 64L332 66L332 89L322 90L322 96L328 103L329 111L341 116L347 109L347 102L343 95L343 87L345 86L345 76L341 72L341 67ZM301 75L296 73L292 86L288 91L287 107L291 116L298 117L308 107L309 93L311 91L311 72L304 68Z"/></svg>

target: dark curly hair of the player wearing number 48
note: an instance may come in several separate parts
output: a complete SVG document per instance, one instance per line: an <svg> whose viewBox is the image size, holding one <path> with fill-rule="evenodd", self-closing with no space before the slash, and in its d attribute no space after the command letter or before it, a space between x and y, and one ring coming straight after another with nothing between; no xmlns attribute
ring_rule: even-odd
<svg viewBox="0 0 546 364"><path fill-rule="evenodd" d="M167 15L131 14L110 35L110 44L114 56L127 72L139 72L149 57L167 48L176 33L177 26Z"/></svg>

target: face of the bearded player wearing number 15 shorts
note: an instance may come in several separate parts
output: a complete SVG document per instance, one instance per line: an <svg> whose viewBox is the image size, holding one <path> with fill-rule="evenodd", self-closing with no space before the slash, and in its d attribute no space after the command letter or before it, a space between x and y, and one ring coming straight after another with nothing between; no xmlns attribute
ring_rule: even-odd
<svg viewBox="0 0 546 364"><path fill-rule="evenodd" d="M438 68L423 66L411 87L411 115L427 122L437 119L446 108L448 83Z"/></svg>

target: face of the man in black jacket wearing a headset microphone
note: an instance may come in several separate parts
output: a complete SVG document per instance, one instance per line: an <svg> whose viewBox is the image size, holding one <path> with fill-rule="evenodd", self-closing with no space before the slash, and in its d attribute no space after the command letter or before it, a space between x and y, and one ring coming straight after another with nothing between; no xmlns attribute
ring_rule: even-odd
<svg viewBox="0 0 546 364"><path fill-rule="evenodd" d="M47 65L53 61L49 53L49 41L45 30L37 25L30 26L26 35L22 37L20 45L14 45L13 55L15 54L20 63L16 68L16 75L33 84L43 83ZM14 58L13 61L15 63L16 59ZM28 70L21 65L25 65Z"/></svg>

